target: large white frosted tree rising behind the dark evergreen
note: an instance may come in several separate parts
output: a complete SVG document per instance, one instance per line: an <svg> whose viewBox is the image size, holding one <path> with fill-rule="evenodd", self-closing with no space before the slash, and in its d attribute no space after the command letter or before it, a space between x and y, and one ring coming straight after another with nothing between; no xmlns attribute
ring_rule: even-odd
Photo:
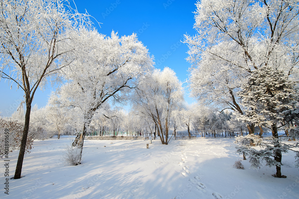
<svg viewBox="0 0 299 199"><path fill-rule="evenodd" d="M270 65L298 79L296 0L198 1L189 46L190 91L202 102L243 113L236 93L252 70ZM247 125L249 133L254 125Z"/></svg>

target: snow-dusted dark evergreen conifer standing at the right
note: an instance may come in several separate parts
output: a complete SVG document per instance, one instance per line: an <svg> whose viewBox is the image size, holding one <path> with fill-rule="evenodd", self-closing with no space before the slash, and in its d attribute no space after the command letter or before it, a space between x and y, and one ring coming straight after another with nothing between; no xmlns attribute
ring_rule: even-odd
<svg viewBox="0 0 299 199"><path fill-rule="evenodd" d="M269 166L276 165L276 177L282 177L281 158L282 152L286 152L286 147L278 139L277 129L289 123L289 115L298 112L298 91L294 87L295 83L282 70L268 65L253 70L248 83L243 83L242 90L237 93L243 107L246 107L244 114L239 113L237 119L271 129L273 146L267 145L263 150L274 157L274 163L272 160L266 161ZM260 151L252 155L257 156L257 153L260 154Z"/></svg>

